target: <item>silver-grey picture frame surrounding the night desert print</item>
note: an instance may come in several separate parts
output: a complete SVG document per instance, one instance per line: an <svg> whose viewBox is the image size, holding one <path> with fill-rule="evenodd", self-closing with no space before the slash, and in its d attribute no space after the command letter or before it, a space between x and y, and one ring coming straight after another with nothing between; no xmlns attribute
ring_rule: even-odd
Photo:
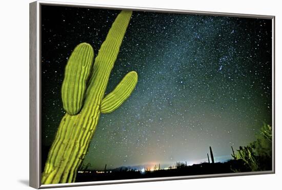
<svg viewBox="0 0 282 190"><path fill-rule="evenodd" d="M93 181L93 182L77 182L64 184L41 184L41 6L68 6L82 8L102 8L102 9L120 9L133 11L151 11L162 13L180 13L180 14L198 14L213 16L229 16L229 17L246 17L246 18L263 18L272 20L272 170L263 172L246 172L246 173L228 173L228 174L209 174L209 175L193 175L180 177L160 177L146 179L127 179L112 181ZM251 15L251 14L235 14L221 12L204 12L190 10L173 10L143 7L127 7L127 6L109 6L109 5L92 5L79 3L59 3L36 1L29 5L30 14L30 79L29 79L29 184L34 188L50 188L50 187L69 187L82 185L100 185L100 184L117 184L132 182L148 182L163 180L179 180L179 179L195 179L195 178L211 178L226 176L246 176L258 174L274 174L275 173L275 16L269 15Z"/></svg>

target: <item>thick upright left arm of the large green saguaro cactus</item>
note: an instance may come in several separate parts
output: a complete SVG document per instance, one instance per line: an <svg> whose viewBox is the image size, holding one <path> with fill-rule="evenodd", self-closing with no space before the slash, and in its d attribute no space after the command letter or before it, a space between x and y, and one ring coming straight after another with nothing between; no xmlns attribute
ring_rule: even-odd
<svg viewBox="0 0 282 190"><path fill-rule="evenodd" d="M91 45L80 43L75 47L66 65L62 100L64 109L70 115L77 114L82 108L93 57L94 52Z"/></svg>

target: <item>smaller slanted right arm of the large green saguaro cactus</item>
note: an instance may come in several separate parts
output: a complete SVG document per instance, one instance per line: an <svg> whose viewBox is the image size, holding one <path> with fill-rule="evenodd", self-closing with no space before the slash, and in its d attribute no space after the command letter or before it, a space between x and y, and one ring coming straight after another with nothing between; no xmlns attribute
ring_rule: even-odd
<svg viewBox="0 0 282 190"><path fill-rule="evenodd" d="M101 113L111 113L130 96L138 80L136 72L128 73L122 81L109 93L101 103Z"/></svg>

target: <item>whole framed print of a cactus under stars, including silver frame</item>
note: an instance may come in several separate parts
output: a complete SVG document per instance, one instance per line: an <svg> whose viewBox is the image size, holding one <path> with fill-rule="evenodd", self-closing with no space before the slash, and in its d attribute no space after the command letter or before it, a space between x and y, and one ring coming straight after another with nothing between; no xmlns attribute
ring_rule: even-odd
<svg viewBox="0 0 282 190"><path fill-rule="evenodd" d="M30 4L30 186L274 173L274 16Z"/></svg>

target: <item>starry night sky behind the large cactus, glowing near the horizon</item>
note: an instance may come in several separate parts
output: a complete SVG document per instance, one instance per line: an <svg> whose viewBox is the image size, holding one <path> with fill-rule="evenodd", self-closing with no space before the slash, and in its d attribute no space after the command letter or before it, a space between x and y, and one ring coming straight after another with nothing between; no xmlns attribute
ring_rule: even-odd
<svg viewBox="0 0 282 190"><path fill-rule="evenodd" d="M80 42L95 56L118 10L42 6L42 157L65 114L64 68ZM84 163L162 167L231 158L272 123L271 20L134 11L107 93L131 70L138 83L101 114ZM43 161L43 164L45 162Z"/></svg>

